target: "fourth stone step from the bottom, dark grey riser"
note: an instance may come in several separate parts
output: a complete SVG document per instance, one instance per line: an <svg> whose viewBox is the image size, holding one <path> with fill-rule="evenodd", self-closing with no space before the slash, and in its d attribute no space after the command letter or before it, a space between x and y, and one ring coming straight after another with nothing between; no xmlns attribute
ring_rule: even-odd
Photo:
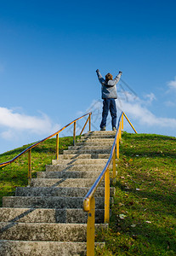
<svg viewBox="0 0 176 256"><path fill-rule="evenodd" d="M111 199L112 201L112 199ZM3 207L14 208L82 208L83 197L59 196L4 196ZM95 197L95 207L104 209L105 198Z"/></svg>

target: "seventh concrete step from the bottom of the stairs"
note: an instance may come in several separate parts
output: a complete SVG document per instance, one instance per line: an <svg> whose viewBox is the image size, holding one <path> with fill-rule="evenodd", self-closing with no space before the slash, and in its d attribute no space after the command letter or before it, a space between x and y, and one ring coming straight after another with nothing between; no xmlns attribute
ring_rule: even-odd
<svg viewBox="0 0 176 256"><path fill-rule="evenodd" d="M91 178L99 177L100 172L37 172L39 178Z"/></svg>

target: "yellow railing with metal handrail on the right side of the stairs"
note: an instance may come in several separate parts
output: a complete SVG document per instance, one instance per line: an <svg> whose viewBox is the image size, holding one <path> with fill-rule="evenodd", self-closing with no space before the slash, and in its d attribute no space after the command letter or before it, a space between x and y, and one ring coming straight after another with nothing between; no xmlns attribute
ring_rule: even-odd
<svg viewBox="0 0 176 256"><path fill-rule="evenodd" d="M84 197L83 200L83 210L88 212L88 224L87 224L87 256L94 256L94 216L95 216L95 200L94 193L99 186L99 183L105 177L105 224L109 223L110 220L110 169L109 166L112 160L112 177L113 182L116 179L116 158L119 159L119 141L122 138L123 131L123 116L128 120L129 125L132 126L127 115L122 112L118 120L118 125L116 129L116 136L114 143L111 148L111 154L109 160L105 165L103 171L99 174L99 177L94 182L93 186L89 189L88 194ZM135 129L133 128L133 131Z"/></svg>

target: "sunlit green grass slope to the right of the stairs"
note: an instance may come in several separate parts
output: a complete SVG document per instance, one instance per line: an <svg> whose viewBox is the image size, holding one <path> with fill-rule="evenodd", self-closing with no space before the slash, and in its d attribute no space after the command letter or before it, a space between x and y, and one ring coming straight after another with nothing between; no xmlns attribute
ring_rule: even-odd
<svg viewBox="0 0 176 256"><path fill-rule="evenodd" d="M96 255L176 255L176 138L123 133L110 229Z"/></svg>

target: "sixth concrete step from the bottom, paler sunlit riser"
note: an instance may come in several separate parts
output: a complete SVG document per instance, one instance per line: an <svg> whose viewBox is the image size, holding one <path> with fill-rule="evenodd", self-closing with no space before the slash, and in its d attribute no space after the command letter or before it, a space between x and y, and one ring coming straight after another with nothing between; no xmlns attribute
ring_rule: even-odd
<svg viewBox="0 0 176 256"><path fill-rule="evenodd" d="M94 182L94 178L32 178L31 187L91 188ZM99 187L103 186L104 181L99 184Z"/></svg>

